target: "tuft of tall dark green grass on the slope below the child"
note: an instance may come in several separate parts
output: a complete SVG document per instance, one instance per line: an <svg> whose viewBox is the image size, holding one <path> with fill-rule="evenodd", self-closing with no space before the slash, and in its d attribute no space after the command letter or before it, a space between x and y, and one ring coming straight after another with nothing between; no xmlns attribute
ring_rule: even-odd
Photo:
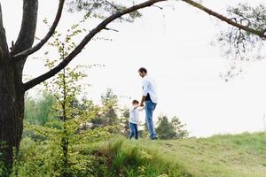
<svg viewBox="0 0 266 177"><path fill-rule="evenodd" d="M141 140L142 141L142 140ZM100 154L106 158L106 176L191 176L182 168L172 164L158 151L152 142L129 141L115 138L100 148ZM145 146L142 145L145 144ZM147 143L150 144L147 145ZM154 149L153 149L154 148Z"/></svg>

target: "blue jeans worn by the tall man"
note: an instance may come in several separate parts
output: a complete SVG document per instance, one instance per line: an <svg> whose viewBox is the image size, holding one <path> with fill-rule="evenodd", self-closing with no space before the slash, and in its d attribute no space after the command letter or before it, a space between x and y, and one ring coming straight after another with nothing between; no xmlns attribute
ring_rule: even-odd
<svg viewBox="0 0 266 177"><path fill-rule="evenodd" d="M155 110L155 108L156 104L154 104L151 100L145 101L146 123L151 139L156 138L156 132L153 125L153 111Z"/></svg>

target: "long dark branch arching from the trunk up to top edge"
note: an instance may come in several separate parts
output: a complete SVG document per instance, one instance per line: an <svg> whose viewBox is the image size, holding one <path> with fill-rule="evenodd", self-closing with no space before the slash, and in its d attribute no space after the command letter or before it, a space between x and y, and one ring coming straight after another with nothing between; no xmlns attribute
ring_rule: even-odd
<svg viewBox="0 0 266 177"><path fill-rule="evenodd" d="M149 7L153 4L163 2L163 1L167 1L167 0L149 0L149 1L146 1L145 3L142 3L142 4L133 5L133 6L127 8L125 10L122 10L121 12L113 13L113 15L109 16L108 18L103 20L100 24L98 24L97 27L92 29L90 31L90 33L83 38L82 42L80 42L77 45L77 47L62 62L59 63L59 65L55 66L53 69L51 69L51 71L49 71L47 73L43 73L43 75L40 75L31 81L27 81L24 84L24 90L26 91L27 89L31 89L31 88L35 87L36 85L38 85L39 83L46 81L47 79L51 78L55 74L59 73L59 71L61 69L66 67L66 65L68 65L73 60L73 58L75 58L82 51L82 49L85 47L85 45L88 42L90 42L90 40L95 35L97 35L101 30L105 29L106 26L109 23L111 23L114 19L119 19L119 18L121 18L121 16L123 16L125 14L128 14L130 12L135 12L138 9L143 9L145 7Z"/></svg>

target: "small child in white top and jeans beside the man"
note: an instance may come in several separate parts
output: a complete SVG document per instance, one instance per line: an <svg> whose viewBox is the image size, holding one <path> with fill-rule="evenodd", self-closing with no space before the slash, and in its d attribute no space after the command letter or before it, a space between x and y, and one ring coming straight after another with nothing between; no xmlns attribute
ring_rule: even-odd
<svg viewBox="0 0 266 177"><path fill-rule="evenodd" d="M137 100L132 101L132 106L129 109L129 139L131 139L133 136L135 137L135 139L138 139L137 124L139 122L139 112L143 110L144 107L139 108L139 103Z"/></svg>

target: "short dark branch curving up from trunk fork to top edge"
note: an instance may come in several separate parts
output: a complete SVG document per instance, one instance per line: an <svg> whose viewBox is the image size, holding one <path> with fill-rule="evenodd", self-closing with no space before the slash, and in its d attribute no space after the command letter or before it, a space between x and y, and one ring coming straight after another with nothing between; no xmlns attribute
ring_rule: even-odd
<svg viewBox="0 0 266 177"><path fill-rule="evenodd" d="M35 51L40 50L43 47L43 45L51 38L51 35L54 34L55 29L59 24L59 20L60 20L61 15L62 15L64 3L65 3L65 0L59 1L59 8L58 8L57 15L56 15L56 17L55 17L55 19L51 25L49 32L47 33L47 35L44 36L43 40L41 40L39 43L37 43L34 47L27 49L27 50L24 50L24 51L21 51L20 53L14 55L13 59L15 61L19 61L21 58L25 58L25 57L35 53Z"/></svg>

